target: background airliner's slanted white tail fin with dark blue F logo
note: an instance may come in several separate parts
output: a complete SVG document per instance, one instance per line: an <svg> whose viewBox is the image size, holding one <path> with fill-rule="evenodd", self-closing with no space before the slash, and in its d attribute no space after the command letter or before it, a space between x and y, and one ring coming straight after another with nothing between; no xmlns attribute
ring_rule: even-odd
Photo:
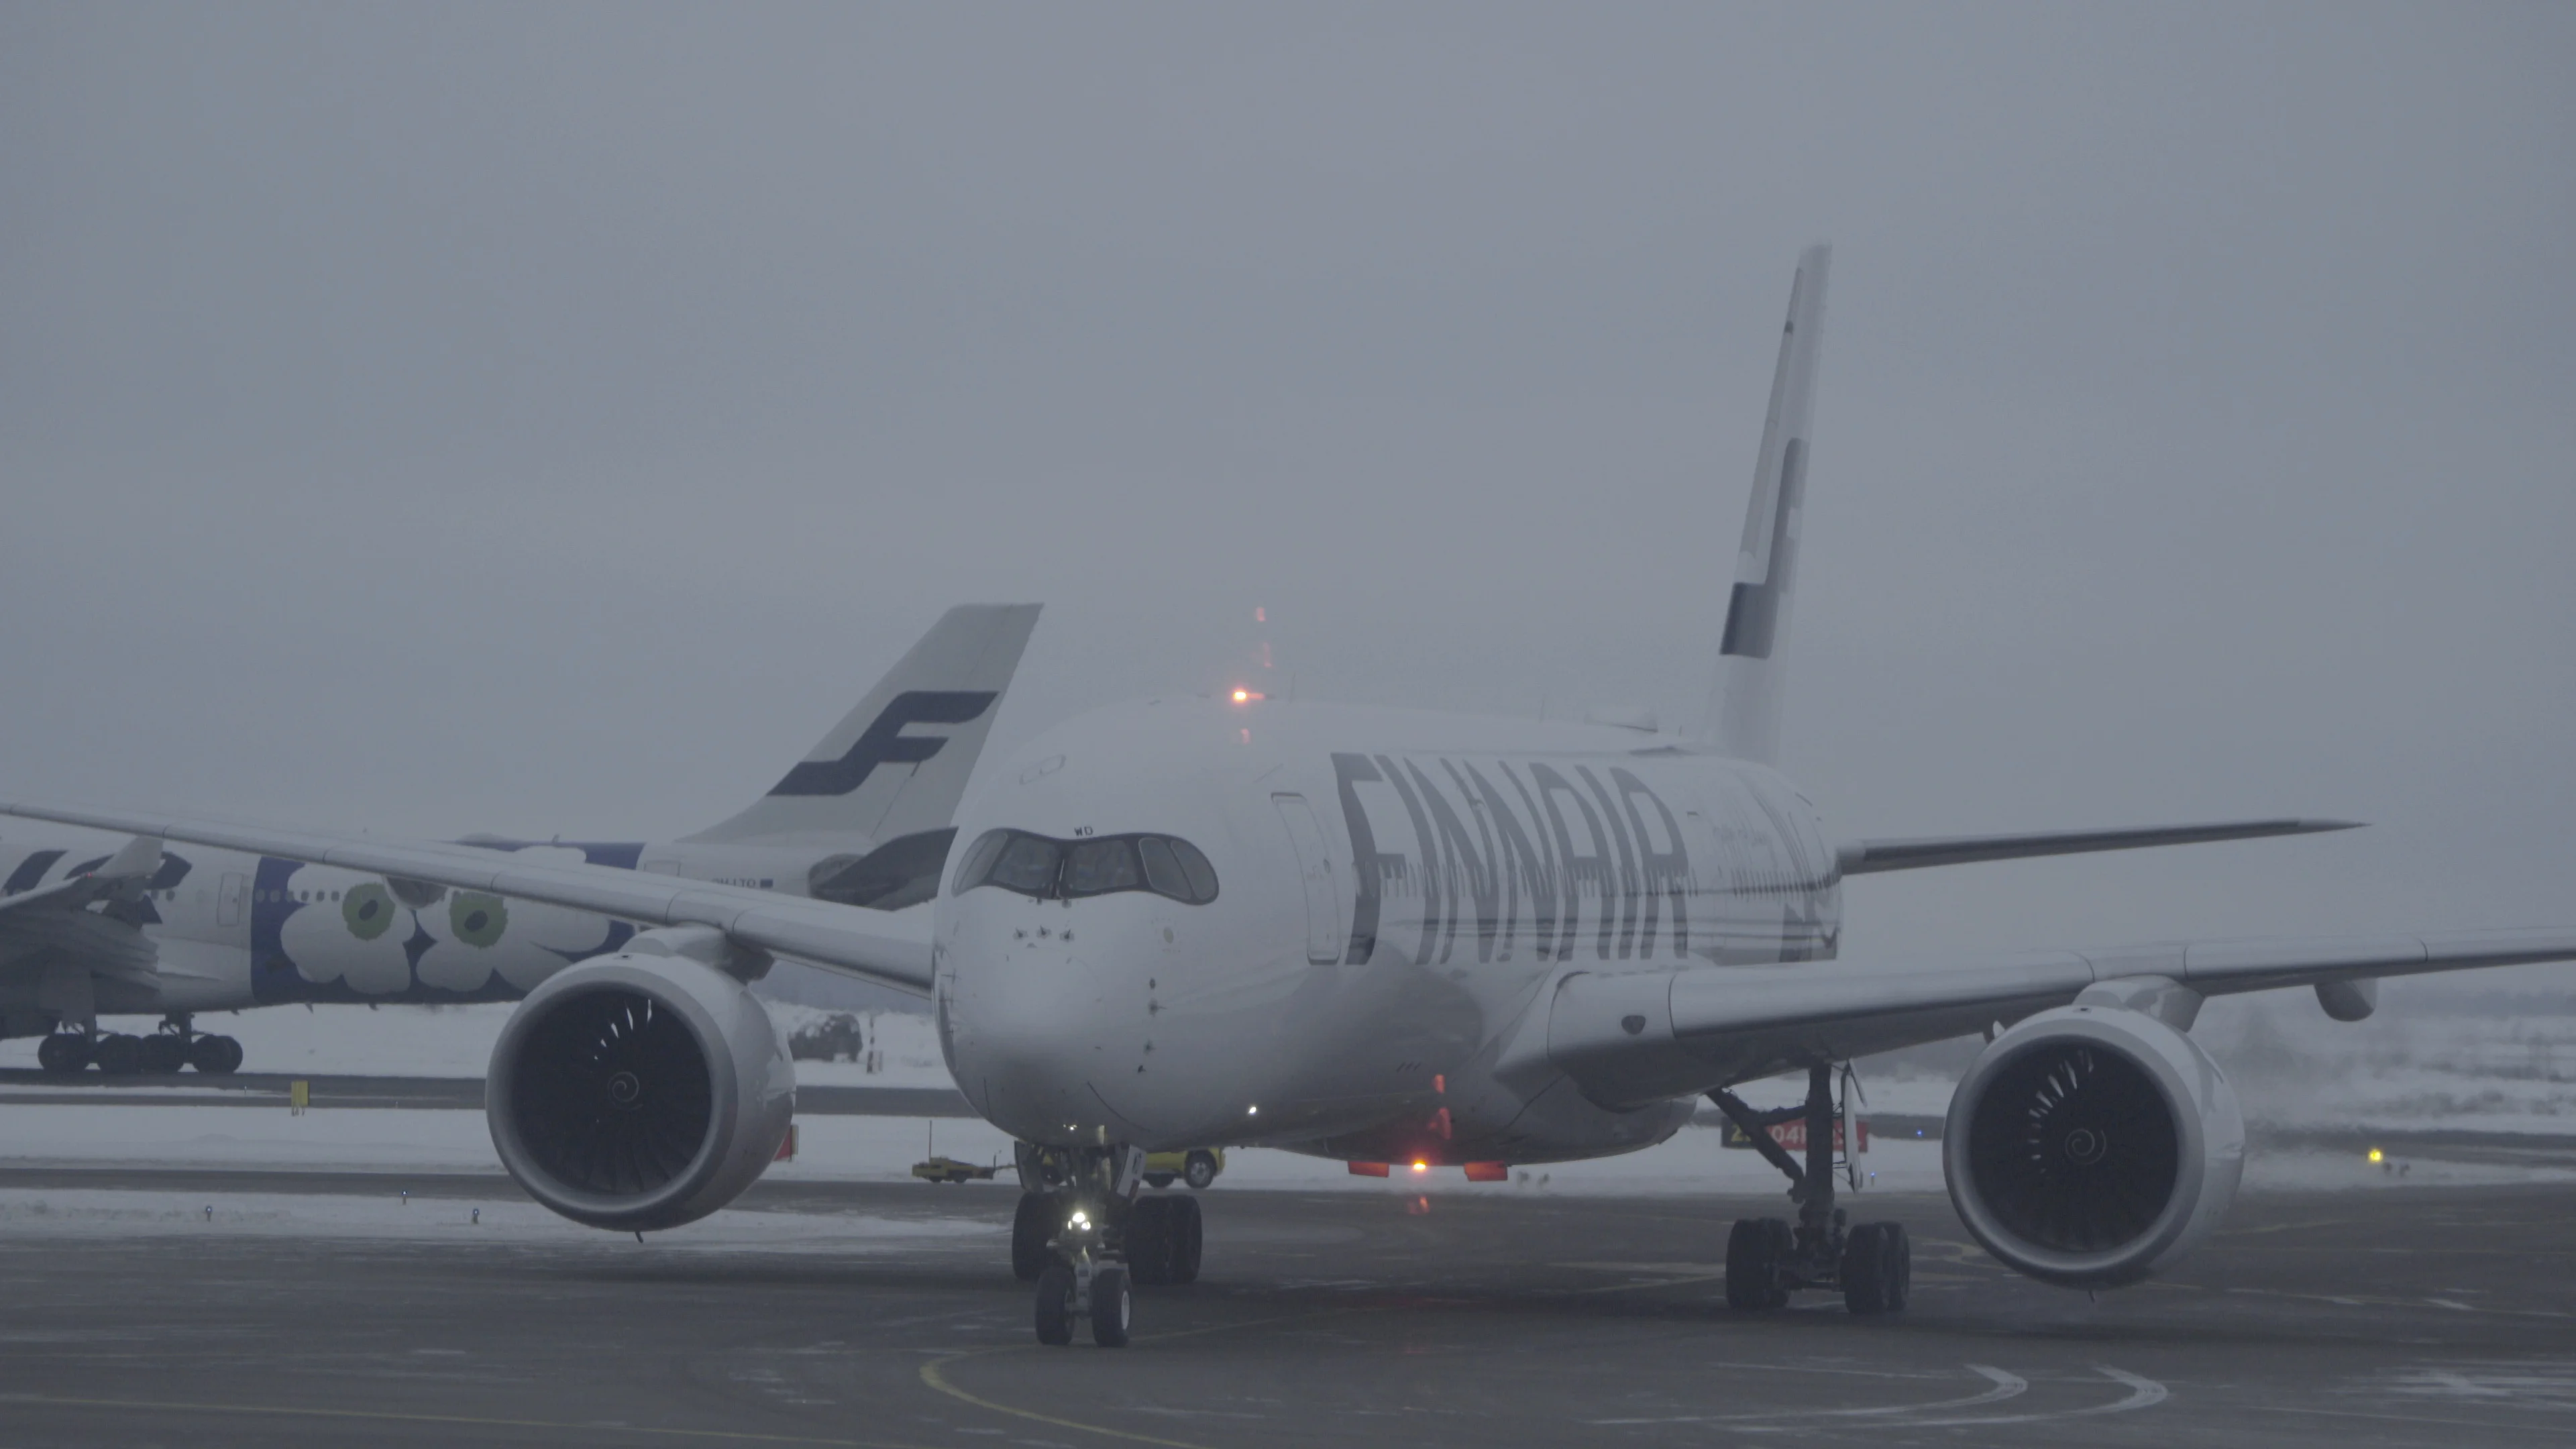
<svg viewBox="0 0 2576 1449"><path fill-rule="evenodd" d="M690 841L884 843L948 830L1036 603L961 603L750 810Z"/></svg>

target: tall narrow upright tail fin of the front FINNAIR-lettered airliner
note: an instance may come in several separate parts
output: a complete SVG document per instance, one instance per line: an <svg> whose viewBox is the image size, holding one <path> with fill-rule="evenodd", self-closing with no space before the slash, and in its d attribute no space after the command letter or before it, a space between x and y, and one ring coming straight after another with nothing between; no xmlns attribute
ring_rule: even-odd
<svg viewBox="0 0 2576 1449"><path fill-rule="evenodd" d="M1798 578L1798 521L1806 505L1808 420L1816 405L1816 351L1824 343L1824 273L1832 248L1798 253L1772 374L1754 500L1744 513L1736 588L1726 601L1718 681L1700 737L1718 750L1772 763L1780 750L1780 645L1788 639L1790 585Z"/></svg>

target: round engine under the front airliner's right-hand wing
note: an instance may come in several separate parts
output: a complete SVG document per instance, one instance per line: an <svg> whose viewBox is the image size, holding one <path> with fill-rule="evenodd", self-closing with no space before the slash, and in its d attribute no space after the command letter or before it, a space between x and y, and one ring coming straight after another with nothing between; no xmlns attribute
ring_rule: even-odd
<svg viewBox="0 0 2576 1449"><path fill-rule="evenodd" d="M2208 1238L2244 1176L2236 1088L2143 1011L2063 1006L1960 1078L1942 1171L1960 1222L2061 1287L2133 1284Z"/></svg>

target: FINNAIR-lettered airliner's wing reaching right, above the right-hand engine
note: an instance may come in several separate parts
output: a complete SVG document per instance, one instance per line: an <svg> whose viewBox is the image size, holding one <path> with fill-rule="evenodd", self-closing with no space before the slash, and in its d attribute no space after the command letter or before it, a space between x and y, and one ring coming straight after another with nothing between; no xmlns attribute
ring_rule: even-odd
<svg viewBox="0 0 2576 1449"><path fill-rule="evenodd" d="M2197 995L2233 995L2571 959L2576 926L2169 941L1935 962L1566 972L1556 977L1553 998L1507 1044L1499 1067L1543 1057L1595 1101L1636 1106L1965 1036L2069 1006L2099 982L2174 982Z"/></svg>

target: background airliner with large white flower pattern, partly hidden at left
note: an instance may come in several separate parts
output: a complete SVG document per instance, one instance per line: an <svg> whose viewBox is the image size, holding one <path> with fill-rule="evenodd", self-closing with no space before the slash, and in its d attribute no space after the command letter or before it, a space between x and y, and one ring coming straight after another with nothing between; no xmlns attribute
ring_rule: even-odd
<svg viewBox="0 0 2576 1449"><path fill-rule="evenodd" d="M999 712L1033 603L951 608L747 810L680 841L505 841L520 861L641 869L899 910L938 892L951 817ZM247 851L13 841L0 846L0 1036L46 1034L49 1073L232 1073L242 1047L196 1013L366 1000L518 1000L616 954L626 920ZM100 1016L162 1016L142 1036Z"/></svg>

